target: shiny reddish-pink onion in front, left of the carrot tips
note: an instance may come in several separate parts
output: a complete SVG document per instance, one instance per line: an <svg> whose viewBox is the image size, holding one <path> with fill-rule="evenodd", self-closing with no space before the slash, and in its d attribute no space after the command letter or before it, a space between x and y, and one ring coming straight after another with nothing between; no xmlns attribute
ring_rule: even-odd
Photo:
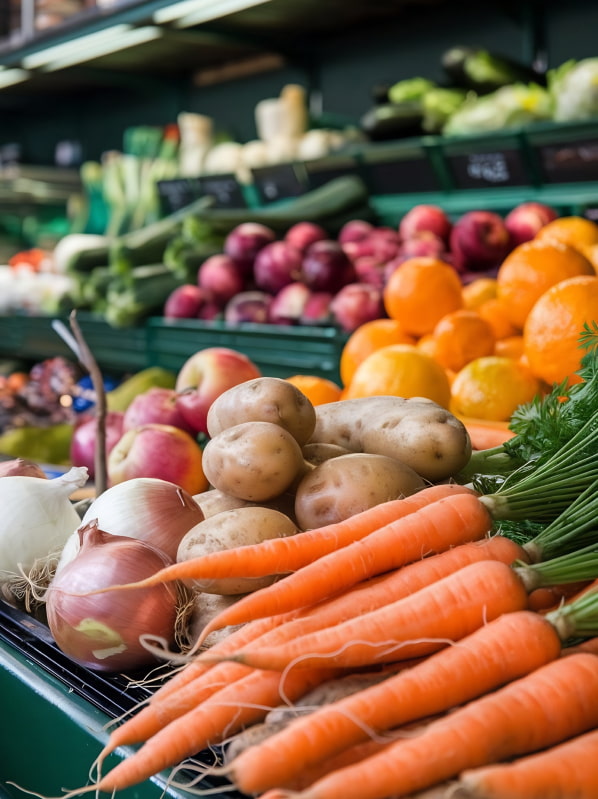
<svg viewBox="0 0 598 799"><path fill-rule="evenodd" d="M155 661L142 636L171 644L177 590L162 583L135 591L97 592L143 580L172 563L145 541L115 536L91 522L78 531L80 549L46 592L48 627L66 655L96 671L137 669Z"/></svg>

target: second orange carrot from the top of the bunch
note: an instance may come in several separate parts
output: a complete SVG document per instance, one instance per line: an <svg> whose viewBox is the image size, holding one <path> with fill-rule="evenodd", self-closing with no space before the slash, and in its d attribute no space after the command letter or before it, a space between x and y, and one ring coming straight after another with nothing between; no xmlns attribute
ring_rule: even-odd
<svg viewBox="0 0 598 799"><path fill-rule="evenodd" d="M314 605L376 574L480 540L491 528L490 514L472 492L436 500L248 594L217 614L204 627L200 640L230 624Z"/></svg>

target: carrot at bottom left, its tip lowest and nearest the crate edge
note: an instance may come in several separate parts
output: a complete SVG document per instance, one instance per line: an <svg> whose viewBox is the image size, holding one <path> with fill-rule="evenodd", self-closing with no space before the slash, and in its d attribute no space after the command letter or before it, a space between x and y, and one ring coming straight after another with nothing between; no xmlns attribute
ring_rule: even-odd
<svg viewBox="0 0 598 799"><path fill-rule="evenodd" d="M167 724L140 749L114 766L93 789L112 793L137 785L208 746L220 743L244 726L261 721L280 703L281 697L296 701L315 685L337 674L331 669L301 669L281 681L277 672L251 671Z"/></svg>

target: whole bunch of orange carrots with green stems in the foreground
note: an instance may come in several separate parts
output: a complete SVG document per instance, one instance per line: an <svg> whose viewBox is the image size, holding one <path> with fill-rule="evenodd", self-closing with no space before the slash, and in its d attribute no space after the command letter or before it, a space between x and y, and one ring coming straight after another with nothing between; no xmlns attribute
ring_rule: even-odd
<svg viewBox="0 0 598 799"><path fill-rule="evenodd" d="M594 408L567 442L491 493L429 486L104 589L285 575L206 625L189 661L112 729L97 780L79 793L119 791L165 769L175 782L179 764L221 746L223 762L196 767L199 795L217 775L261 799L432 787L451 799L595 799L597 441ZM501 528L513 519L534 519L539 531L516 543ZM321 701L348 675L358 678L351 692ZM284 723L269 725L275 708ZM129 745L103 774L108 755Z"/></svg>

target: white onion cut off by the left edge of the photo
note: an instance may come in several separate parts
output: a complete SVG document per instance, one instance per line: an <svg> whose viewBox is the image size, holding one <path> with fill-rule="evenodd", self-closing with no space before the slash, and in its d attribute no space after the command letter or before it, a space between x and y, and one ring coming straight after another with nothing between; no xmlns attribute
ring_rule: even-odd
<svg viewBox="0 0 598 799"><path fill-rule="evenodd" d="M84 466L60 477L13 475L0 479L0 583L31 576L57 556L81 523L69 497L88 479Z"/></svg>

